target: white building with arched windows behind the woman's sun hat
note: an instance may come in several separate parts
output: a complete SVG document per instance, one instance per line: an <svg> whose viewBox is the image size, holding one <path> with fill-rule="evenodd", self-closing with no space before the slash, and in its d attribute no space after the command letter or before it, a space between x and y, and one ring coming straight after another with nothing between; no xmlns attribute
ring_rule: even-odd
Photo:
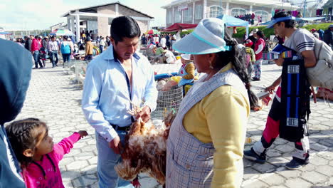
<svg viewBox="0 0 333 188"><path fill-rule="evenodd" d="M270 21L272 11L285 9L297 10L287 0L176 0L162 6L166 9L166 26L173 23L199 23L201 19L221 16L241 16L255 14L255 23L258 16L262 22Z"/></svg>

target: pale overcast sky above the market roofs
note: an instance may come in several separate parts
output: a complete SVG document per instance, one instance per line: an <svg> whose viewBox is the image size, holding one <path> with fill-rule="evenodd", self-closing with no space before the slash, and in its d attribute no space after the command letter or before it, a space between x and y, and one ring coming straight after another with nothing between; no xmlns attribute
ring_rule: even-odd
<svg viewBox="0 0 333 188"><path fill-rule="evenodd" d="M0 0L0 27L5 30L48 29L67 22L60 15L70 9L112 3L117 0ZM154 17L150 26L165 25L165 9L161 6L173 0L118 0L133 9ZM225 0L222 0L225 1ZM299 2L302 0L295 0ZM324 0L327 1L327 0Z"/></svg>

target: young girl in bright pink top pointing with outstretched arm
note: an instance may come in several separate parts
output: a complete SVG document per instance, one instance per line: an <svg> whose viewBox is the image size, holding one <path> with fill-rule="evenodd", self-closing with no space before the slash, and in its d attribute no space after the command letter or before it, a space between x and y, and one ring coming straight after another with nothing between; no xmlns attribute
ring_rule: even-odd
<svg viewBox="0 0 333 188"><path fill-rule="evenodd" d="M28 188L63 188L58 164L75 142L88 135L86 131L80 130L53 145L46 123L36 118L12 122L6 127L6 132L21 163L23 179Z"/></svg>

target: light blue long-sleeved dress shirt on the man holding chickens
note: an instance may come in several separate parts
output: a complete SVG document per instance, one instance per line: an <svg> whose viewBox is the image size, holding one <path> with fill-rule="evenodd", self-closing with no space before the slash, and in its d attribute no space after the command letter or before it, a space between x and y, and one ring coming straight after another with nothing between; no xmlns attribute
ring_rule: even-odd
<svg viewBox="0 0 333 188"><path fill-rule="evenodd" d="M120 127L131 125L131 115L127 113L132 108L131 98L135 105L147 105L152 111L157 105L154 72L146 57L133 54L132 88L127 82L125 69L114 57L112 46L88 64L82 109L90 125L107 142L117 136L110 124Z"/></svg>

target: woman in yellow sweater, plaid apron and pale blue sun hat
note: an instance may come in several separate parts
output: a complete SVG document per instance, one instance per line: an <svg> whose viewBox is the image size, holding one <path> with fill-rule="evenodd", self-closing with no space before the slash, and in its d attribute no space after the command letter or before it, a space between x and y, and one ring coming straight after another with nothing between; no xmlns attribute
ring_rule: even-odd
<svg viewBox="0 0 333 188"><path fill-rule="evenodd" d="M166 187L240 187L250 78L237 41L221 19L203 19L173 48L192 54L199 73L171 125ZM250 100L249 100L250 99Z"/></svg>

